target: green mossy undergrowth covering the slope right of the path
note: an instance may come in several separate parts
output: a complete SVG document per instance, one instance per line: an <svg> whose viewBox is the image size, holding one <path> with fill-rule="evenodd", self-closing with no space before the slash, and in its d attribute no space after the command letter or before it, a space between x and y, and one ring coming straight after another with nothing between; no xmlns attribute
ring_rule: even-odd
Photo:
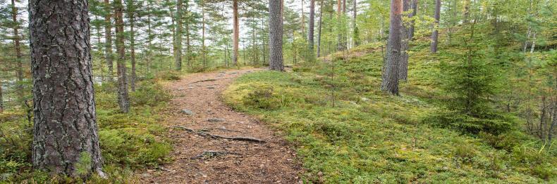
<svg viewBox="0 0 557 184"><path fill-rule="evenodd" d="M556 181L555 146L518 129L499 131L499 126L516 126L508 121L478 127L460 123L474 119L439 114L446 96L434 87L439 72L434 60L443 58L427 54L427 47L414 49L402 96L379 91L381 49L369 45L346 60L338 53L331 56L333 62L301 63L294 72L246 74L223 98L283 131L296 145L309 182ZM455 124L440 126L436 116Z"/></svg>

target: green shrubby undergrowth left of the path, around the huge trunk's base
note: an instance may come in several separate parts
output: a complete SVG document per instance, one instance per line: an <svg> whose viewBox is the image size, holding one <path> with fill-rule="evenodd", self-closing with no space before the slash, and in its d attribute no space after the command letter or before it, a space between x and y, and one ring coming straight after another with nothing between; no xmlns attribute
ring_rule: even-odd
<svg viewBox="0 0 557 184"><path fill-rule="evenodd" d="M130 91L128 114L118 109L114 84L94 87L104 172L109 178L93 176L86 183L129 183L134 170L169 162L172 147L165 138L166 128L160 124L162 117L158 112L166 107L171 96L161 86L161 79L179 77L169 72L141 81L136 91ZM24 112L0 113L0 122L0 183L83 183L80 178L32 171L32 123Z"/></svg>

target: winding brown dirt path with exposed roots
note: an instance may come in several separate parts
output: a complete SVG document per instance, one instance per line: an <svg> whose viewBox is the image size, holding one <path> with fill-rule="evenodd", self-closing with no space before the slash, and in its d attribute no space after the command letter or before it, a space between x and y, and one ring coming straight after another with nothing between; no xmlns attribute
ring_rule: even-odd
<svg viewBox="0 0 557 184"><path fill-rule="evenodd" d="M233 79L257 71L196 73L166 85L173 96L166 112L173 162L140 174L142 183L301 183L301 166L286 141L219 99Z"/></svg>

